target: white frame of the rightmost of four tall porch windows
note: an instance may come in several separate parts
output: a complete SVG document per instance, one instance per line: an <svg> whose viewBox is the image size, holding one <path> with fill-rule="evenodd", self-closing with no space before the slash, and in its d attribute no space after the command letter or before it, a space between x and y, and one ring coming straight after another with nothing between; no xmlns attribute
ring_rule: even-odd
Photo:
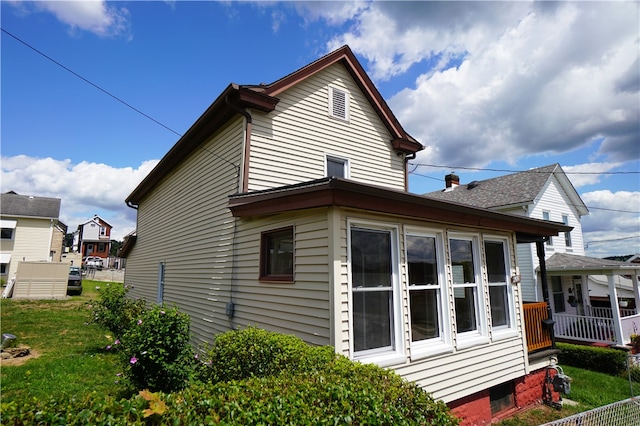
<svg viewBox="0 0 640 426"><path fill-rule="evenodd" d="M487 305L489 307L489 324L491 327L491 336L493 340L501 340L510 337L517 336L518 329L516 325L516 312L515 312L515 295L514 295L514 285L511 284L511 274L512 274L512 266L511 266L511 246L509 244L509 239L507 237L498 236L498 235L484 235L482 242L482 250L484 251L484 263L485 267L488 267L489 262L487 260L487 254L485 249L485 243L502 243L502 247L504 250L504 268L505 268L505 281L504 282L489 282L489 271L487 270L487 295L488 302ZM507 304L506 314L508 315L508 325L497 326L493 325L493 318L491 318L491 294L489 293L489 289L491 287L505 287L507 293Z"/></svg>

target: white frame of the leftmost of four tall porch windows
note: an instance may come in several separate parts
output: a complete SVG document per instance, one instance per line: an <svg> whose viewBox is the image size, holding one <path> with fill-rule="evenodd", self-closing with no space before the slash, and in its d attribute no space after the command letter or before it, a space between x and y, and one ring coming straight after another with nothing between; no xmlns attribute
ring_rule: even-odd
<svg viewBox="0 0 640 426"><path fill-rule="evenodd" d="M356 352L354 349L354 318L353 318L353 277L352 277L352 250L351 250L351 230L370 229L372 231L389 232L391 238L391 294L392 303L392 346L390 348L368 349ZM399 253L400 245L398 241L399 230L397 226L373 222L360 219L347 219L347 271L349 279L349 356L351 359L366 363L375 363L379 366L389 366L404 362L405 341L404 341L404 316L402 309L400 274L399 274Z"/></svg>

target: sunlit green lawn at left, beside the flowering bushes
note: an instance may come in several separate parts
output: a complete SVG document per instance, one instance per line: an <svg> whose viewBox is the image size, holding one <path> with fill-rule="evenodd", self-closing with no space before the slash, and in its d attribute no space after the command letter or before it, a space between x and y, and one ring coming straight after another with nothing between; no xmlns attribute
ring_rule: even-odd
<svg viewBox="0 0 640 426"><path fill-rule="evenodd" d="M117 355L106 345L113 338L95 325L87 325L96 286L85 280L81 296L67 300L3 299L1 332L17 336L35 356L22 365L3 361L0 370L2 402L35 398L64 398L90 392L117 395Z"/></svg>

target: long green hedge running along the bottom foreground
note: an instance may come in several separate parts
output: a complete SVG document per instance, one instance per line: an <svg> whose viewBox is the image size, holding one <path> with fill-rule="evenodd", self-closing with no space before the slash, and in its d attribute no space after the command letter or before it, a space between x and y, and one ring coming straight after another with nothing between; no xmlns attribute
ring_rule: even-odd
<svg viewBox="0 0 640 426"><path fill-rule="evenodd" d="M337 357L323 369L140 392L3 404L3 424L457 425L441 401L397 374Z"/></svg>

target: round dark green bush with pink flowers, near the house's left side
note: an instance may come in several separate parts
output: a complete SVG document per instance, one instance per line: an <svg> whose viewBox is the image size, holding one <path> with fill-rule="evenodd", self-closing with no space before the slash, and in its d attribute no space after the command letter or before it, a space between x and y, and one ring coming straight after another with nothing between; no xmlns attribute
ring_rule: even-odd
<svg viewBox="0 0 640 426"><path fill-rule="evenodd" d="M156 305L125 330L120 356L135 389L171 392L189 384L196 365L189 323L177 308Z"/></svg>

